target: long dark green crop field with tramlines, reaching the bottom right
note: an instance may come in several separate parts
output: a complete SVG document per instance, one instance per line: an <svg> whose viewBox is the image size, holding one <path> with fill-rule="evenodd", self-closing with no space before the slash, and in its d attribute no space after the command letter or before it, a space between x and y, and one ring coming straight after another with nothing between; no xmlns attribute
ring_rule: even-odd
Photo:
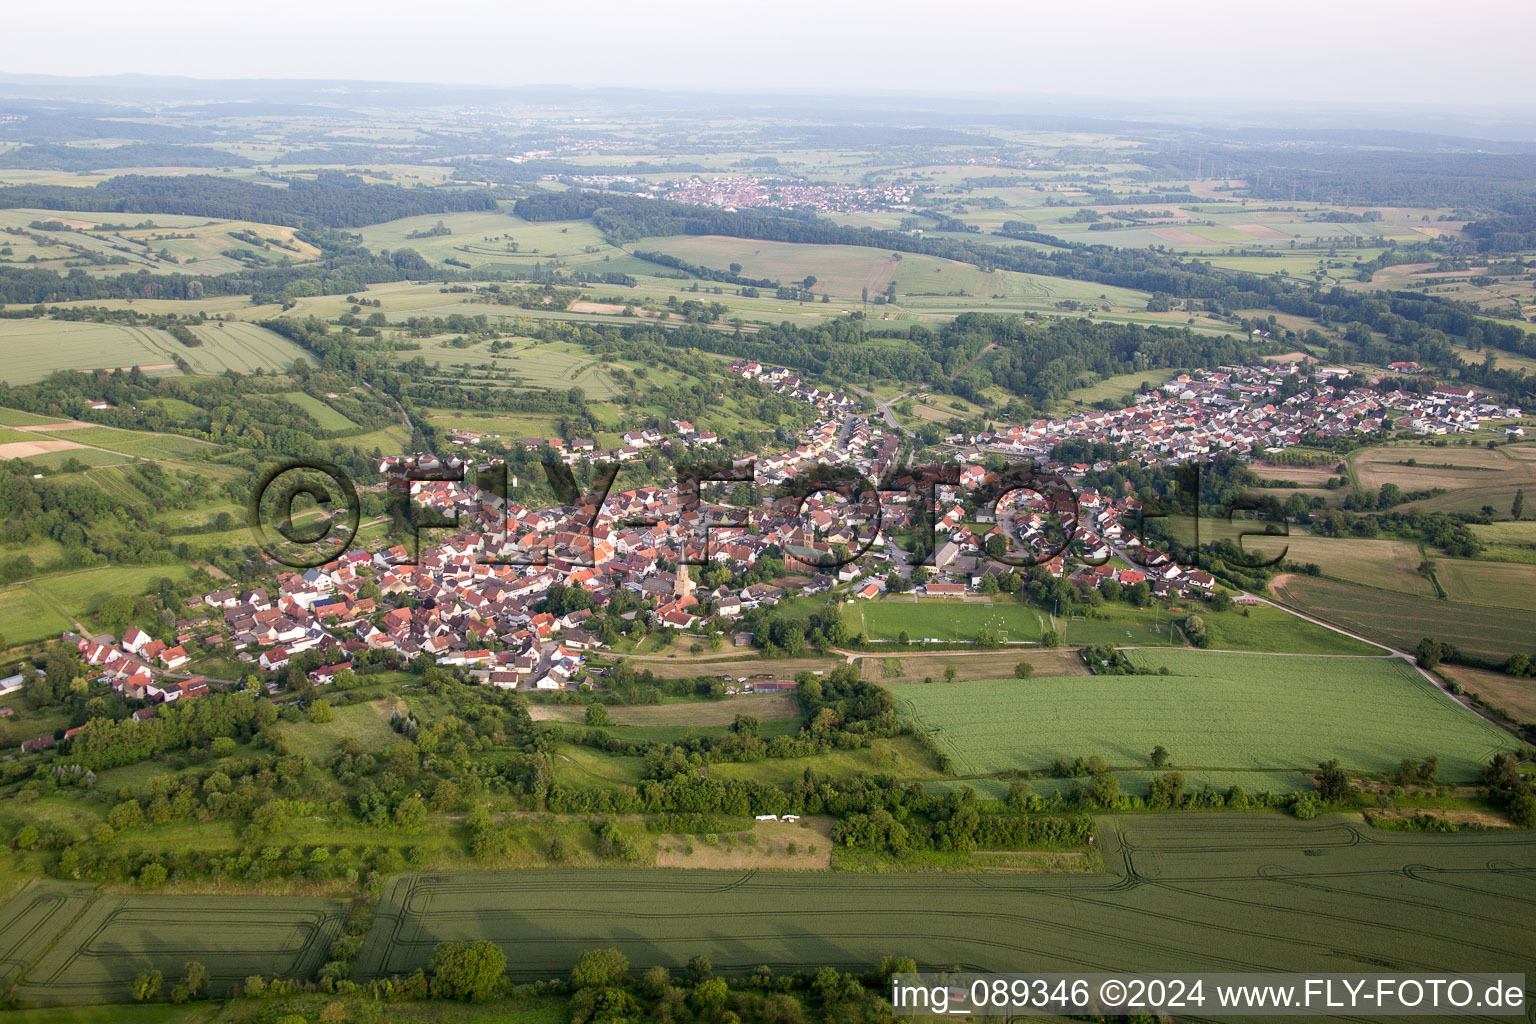
<svg viewBox="0 0 1536 1024"><path fill-rule="evenodd" d="M406 875L386 889L356 976L409 973L439 941L481 938L516 981L564 975L598 946L619 947L634 972L699 953L723 973L868 969L885 955L971 970L1536 969L1528 832L1164 815L1101 818L1095 840L1095 875Z"/></svg>

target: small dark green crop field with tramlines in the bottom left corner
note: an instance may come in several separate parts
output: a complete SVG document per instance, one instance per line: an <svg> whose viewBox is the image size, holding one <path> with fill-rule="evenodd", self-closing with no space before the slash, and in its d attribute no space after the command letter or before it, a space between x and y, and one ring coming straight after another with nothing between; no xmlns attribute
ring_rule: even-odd
<svg viewBox="0 0 1536 1024"><path fill-rule="evenodd" d="M335 900L131 894L80 906L81 894L89 898L91 887L60 895L34 886L17 897L18 910L6 907L31 923L22 953L35 960L20 981L23 1001L117 1003L138 972L178 978L189 960L207 967L215 995L253 973L304 978L324 963L346 918ZM57 912L60 900L75 912Z"/></svg>

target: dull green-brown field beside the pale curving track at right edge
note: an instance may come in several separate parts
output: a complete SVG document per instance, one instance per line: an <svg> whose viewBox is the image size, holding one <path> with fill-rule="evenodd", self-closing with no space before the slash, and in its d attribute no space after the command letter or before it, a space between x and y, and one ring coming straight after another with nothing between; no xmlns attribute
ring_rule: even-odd
<svg viewBox="0 0 1536 1024"><path fill-rule="evenodd" d="M1435 637L1502 663L1510 654L1531 646L1530 613L1514 608L1461 605L1310 576L1278 576L1272 588L1281 602L1298 611L1399 651L1412 651L1421 639Z"/></svg>

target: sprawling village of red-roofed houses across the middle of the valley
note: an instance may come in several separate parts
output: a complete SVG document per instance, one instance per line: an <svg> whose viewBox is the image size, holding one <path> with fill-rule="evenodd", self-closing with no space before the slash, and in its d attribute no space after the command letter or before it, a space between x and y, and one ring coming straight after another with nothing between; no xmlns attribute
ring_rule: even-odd
<svg viewBox="0 0 1536 1024"><path fill-rule="evenodd" d="M817 410L817 419L791 450L737 461L737 468L751 473L757 493L771 494L816 467L849 467L882 481L909 465L899 430L860 411L857 399L816 387L783 367L737 362L730 370ZM1393 370L1412 373L1416 367L1401 364ZM1518 408L1493 404L1468 388L1346 388L1338 384L1346 375L1341 368L1298 364L1197 370L1178 373L1124 408L946 438L937 451L958 467L958 482L937 491L937 547L915 594L965 599L986 588L988 574L1009 571L986 554L994 534L1001 534L1015 556L1034 553L1052 576L1080 585L1146 582L1161 599L1213 590L1210 574L1175 563L1135 536L1140 504L1134 496L1078 488L1075 508L1061 510L1049 497L1012 491L995 502L998 507L980 507L986 485L997 477L983 465L995 465L992 456L1080 481L1107 464L1057 462L1052 453L1063 441L1107 441L1127 445L1143 462L1175 465L1218 451L1244 457L1276 453L1309 434L1384 427L1442 434L1519 416ZM574 464L627 462L647 448L710 448L717 438L674 421L671 431L630 431L622 441L616 450L601 450L581 439L519 439ZM479 442L476 434L455 431L450 444L461 453L387 457L379 471L398 484L402 470L412 467L467 465L484 457L476 451ZM879 600L892 576L911 579L914 573L892 542L915 519L914 504L902 496L882 502L876 524L859 511L862 507L828 493L803 504L768 497L757 508L727 510L702 500L690 504L676 485L648 485L610 493L601 505L593 500L525 508L468 484L427 481L409 487L413 500L458 522L453 530L425 534L415 562L406 547L393 547L376 553L349 550L303 571L276 567L270 586L215 590L200 602L194 599L197 608L177 623L175 645L132 628L121 637L65 639L78 646L97 679L146 702L135 712L138 718L154 715L161 703L197 699L210 685L235 685L183 671L190 657L181 645L194 639L203 645L229 642L273 692L289 663L309 651L321 652L323 663L307 672L315 686L350 671L353 659L367 651L401 665L429 659L459 666L488 686L567 691L601 686L587 662L593 652L608 649L611 637L588 628L594 608L625 608L621 617L639 620L645 629L700 637L711 633L748 646L751 636L736 629L736 620L791 591ZM743 513L750 513L750 527L740 525ZM1063 536L1071 539L1080 563L1058 553L1057 539ZM839 553L857 557L834 557ZM763 557L782 560L790 576L760 579L753 567ZM708 574L714 583L699 583L688 565L725 571ZM576 602L576 609L548 609L545 599L556 586L581 588L590 600ZM780 683L762 683L773 685ZM29 740L32 749L55 742L52 735Z"/></svg>

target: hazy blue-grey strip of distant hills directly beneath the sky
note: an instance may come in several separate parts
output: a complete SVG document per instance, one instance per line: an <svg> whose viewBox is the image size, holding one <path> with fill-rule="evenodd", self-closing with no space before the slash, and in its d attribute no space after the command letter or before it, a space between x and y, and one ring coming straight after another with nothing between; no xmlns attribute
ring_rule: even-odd
<svg viewBox="0 0 1536 1024"><path fill-rule="evenodd" d="M323 92L316 94L316 89ZM1536 146L1536 100L1525 103L1372 103L1350 100L1264 100L1200 97L1115 97L1072 92L926 92L894 86L702 86L565 84L556 81L475 83L356 77L246 77L158 72L54 75L0 69L0 106L114 104L123 107L172 106L183 112L198 104L287 104L323 107L430 107L461 104L548 104L568 101L578 117L608 117L610 111L582 112L584 103L633 104L628 115L714 115L788 118L802 123L949 124L998 130L1213 130L1224 132L1381 132L1418 135L1425 141L1488 143L1507 152ZM773 106L779 103L782 106ZM650 107L650 109L645 109ZM613 111L614 114L617 111ZM521 117L536 115L528 111ZM1034 124L1009 124L1029 121ZM1058 120L1060 124L1040 124ZM1235 140L1233 140L1235 141ZM1284 141L1284 140L1272 140ZM1390 144L1390 143L1387 143ZM1407 144L1409 149L1415 146Z"/></svg>

